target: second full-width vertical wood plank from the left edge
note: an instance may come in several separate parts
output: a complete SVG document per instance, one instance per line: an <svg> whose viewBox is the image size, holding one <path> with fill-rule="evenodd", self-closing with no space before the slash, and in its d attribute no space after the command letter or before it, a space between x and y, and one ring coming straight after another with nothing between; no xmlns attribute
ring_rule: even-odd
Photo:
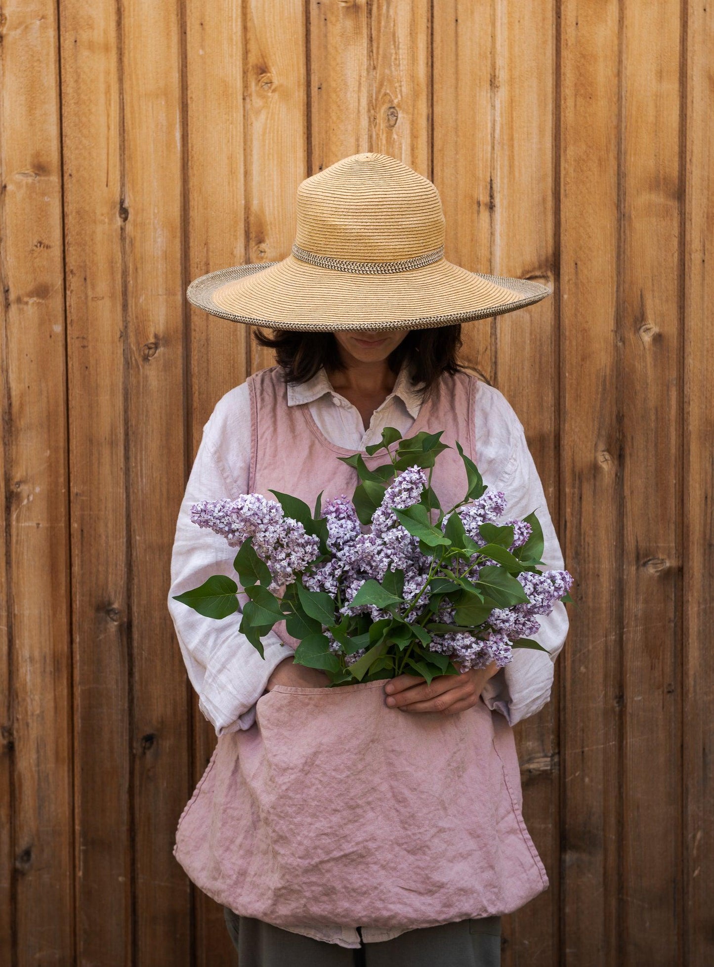
<svg viewBox="0 0 714 967"><path fill-rule="evenodd" d="M121 38L62 5L74 638L77 961L132 960Z"/></svg>

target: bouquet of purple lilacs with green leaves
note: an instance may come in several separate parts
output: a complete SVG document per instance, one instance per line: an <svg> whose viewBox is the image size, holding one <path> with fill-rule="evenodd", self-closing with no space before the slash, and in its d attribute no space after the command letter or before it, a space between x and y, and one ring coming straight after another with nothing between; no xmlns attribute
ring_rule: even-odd
<svg viewBox="0 0 714 967"><path fill-rule="evenodd" d="M324 507L320 493L313 513L276 490L277 500L248 493L193 504L195 524L239 548L233 567L249 598L239 630L261 655L261 637L283 620L300 641L295 661L323 669L335 686L404 672L431 682L501 667L514 648L545 651L529 635L555 601L572 601L573 578L539 569L535 513L500 520L504 494L489 491L458 442L466 493L441 509L431 471L447 449L442 432L402 438L386 427L367 453L383 449L389 462L370 470L360 454L339 457L360 483L351 499ZM223 619L238 609L237 594L235 581L216 574L174 597Z"/></svg>

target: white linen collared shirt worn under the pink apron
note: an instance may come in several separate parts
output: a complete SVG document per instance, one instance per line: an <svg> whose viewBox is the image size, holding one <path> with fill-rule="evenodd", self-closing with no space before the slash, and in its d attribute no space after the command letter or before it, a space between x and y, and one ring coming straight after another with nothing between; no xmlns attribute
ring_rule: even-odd
<svg viewBox="0 0 714 967"><path fill-rule="evenodd" d="M381 440L385 426L395 426L406 436L419 412L420 400L418 387L409 384L402 366L392 393L374 410L365 430L357 408L333 389L321 368L306 383L288 384L287 405L310 407L315 423L328 440L357 451ZM475 424L477 466L485 484L505 493L504 519L522 518L535 511L543 527L543 562L549 569L561 569L562 553L521 422L505 396L481 381ZM251 403L248 384L244 382L218 400L203 426L176 523L168 593L168 610L189 678L198 693L198 707L218 736L253 725L255 703L274 668L292 654L270 631L262 639L265 659L261 659L238 630L238 613L220 621L205 618L173 598L198 587L212 574L226 574L237 581L233 570L235 548L212 531L197 527L191 520L191 506L200 500L234 500L248 492L250 458ZM550 699L553 663L568 631L567 612L560 601L550 615L538 620L540 630L532 637L547 652L516 649L513 659L489 679L482 691L488 708L503 715L511 725L534 715ZM306 926L293 932L343 947L360 946L354 927ZM402 932L364 927L362 938L365 942L383 941Z"/></svg>

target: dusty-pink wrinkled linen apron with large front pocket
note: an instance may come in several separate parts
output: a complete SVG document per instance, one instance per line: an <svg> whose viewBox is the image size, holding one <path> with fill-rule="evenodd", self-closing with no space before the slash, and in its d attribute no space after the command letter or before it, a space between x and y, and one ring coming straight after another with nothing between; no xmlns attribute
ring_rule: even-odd
<svg viewBox="0 0 714 967"><path fill-rule="evenodd" d="M249 383L249 489L311 507L322 489L323 503L351 496L356 473L337 459L351 451L307 406L287 406L279 367ZM443 429L453 448L431 478L444 508L465 492L457 439L478 464L476 392L475 377L444 374L408 434ZM371 467L385 460L363 455ZM258 699L252 728L219 738L176 833L174 856L196 886L286 928L402 929L510 913L547 889L506 719L481 699L454 716L409 715L385 705L383 686L278 686Z"/></svg>

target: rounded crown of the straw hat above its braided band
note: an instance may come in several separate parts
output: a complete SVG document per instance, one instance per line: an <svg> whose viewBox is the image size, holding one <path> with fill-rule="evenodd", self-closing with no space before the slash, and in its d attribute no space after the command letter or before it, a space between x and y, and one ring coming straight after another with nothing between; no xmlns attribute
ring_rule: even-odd
<svg viewBox="0 0 714 967"><path fill-rule="evenodd" d="M399 261L438 249L444 229L434 185L389 155L342 158L298 186L295 241L315 255Z"/></svg>

